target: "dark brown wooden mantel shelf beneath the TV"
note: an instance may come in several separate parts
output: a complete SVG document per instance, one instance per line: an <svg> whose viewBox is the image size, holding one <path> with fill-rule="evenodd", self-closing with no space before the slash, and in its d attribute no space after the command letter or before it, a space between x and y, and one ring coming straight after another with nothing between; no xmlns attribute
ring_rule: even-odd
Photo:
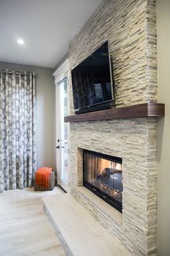
<svg viewBox="0 0 170 256"><path fill-rule="evenodd" d="M100 111L66 116L65 122L99 121L110 119L131 119L140 117L164 116L165 105L162 103L143 103L121 108L109 108Z"/></svg>

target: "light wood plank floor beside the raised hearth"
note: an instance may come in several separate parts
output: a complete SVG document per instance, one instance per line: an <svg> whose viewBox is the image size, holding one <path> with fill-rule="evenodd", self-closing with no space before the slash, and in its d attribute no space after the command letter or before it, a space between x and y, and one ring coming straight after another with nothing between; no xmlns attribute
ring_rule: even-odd
<svg viewBox="0 0 170 256"><path fill-rule="evenodd" d="M59 187L49 192L17 189L0 193L0 256L65 255L41 200L60 193Z"/></svg>

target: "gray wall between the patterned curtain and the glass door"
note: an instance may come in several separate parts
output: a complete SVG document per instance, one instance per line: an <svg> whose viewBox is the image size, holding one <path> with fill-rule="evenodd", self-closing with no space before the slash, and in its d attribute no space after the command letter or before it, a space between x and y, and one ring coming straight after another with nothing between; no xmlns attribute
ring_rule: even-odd
<svg viewBox="0 0 170 256"><path fill-rule="evenodd" d="M37 167L55 168L55 85L53 69L0 62L0 69L34 71L36 83Z"/></svg>

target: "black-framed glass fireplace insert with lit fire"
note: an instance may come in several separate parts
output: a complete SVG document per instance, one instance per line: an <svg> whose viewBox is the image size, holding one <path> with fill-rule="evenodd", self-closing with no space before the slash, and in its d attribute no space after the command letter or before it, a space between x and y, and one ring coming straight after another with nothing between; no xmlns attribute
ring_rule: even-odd
<svg viewBox="0 0 170 256"><path fill-rule="evenodd" d="M122 158L84 150L84 187L122 213Z"/></svg>

